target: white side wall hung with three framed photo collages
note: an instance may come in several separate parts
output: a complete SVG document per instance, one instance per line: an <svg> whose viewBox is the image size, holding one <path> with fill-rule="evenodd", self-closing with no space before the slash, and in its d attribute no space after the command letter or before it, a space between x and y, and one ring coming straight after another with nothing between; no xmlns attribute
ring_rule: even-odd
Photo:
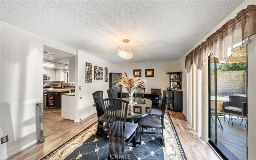
<svg viewBox="0 0 256 160"><path fill-rule="evenodd" d="M77 51L76 58L76 75L78 75L76 78L76 95L78 96L76 96L77 112L75 122L78 122L80 119L83 120L96 113L96 109L93 108L93 92L103 91L103 97L108 98L107 90L109 88L109 82L105 82L105 75L102 81L94 80L94 66L103 67L103 69L104 67L108 67L108 72L112 72L113 64L82 51ZM85 62L92 63L92 83L85 83ZM105 71L103 73L105 74ZM82 87L81 90L79 90L79 86ZM79 97L82 97L82 99Z"/></svg>

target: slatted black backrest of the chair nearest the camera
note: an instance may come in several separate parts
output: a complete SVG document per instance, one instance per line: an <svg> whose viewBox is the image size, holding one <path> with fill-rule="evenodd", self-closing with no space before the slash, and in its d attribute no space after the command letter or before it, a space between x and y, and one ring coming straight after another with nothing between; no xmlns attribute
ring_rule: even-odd
<svg viewBox="0 0 256 160"><path fill-rule="evenodd" d="M105 98L100 101L107 117L108 156L122 156L124 155L124 131L129 102L119 98Z"/></svg>

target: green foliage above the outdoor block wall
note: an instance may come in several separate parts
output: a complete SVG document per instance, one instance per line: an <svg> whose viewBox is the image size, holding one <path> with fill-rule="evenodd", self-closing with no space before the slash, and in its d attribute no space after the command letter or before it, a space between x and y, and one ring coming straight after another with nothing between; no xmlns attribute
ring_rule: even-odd
<svg viewBox="0 0 256 160"><path fill-rule="evenodd" d="M240 63L217 63L217 71L246 70L246 62ZM214 64L211 64L211 73L214 73Z"/></svg>

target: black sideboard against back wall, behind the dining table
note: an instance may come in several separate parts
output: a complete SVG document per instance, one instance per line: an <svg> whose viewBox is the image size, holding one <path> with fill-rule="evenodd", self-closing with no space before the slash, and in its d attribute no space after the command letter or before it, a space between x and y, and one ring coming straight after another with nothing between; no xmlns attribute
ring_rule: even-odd
<svg viewBox="0 0 256 160"><path fill-rule="evenodd" d="M128 92L122 92L122 98L126 98L126 97L129 97ZM135 94L133 94L133 97L135 97ZM162 93L156 94L156 93L147 93L147 92L145 92L144 98L152 100L152 107L161 108Z"/></svg>

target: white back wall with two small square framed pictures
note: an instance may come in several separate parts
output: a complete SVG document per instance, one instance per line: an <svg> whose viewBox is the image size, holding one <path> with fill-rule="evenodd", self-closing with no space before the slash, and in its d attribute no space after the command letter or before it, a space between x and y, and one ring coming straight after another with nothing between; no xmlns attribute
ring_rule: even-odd
<svg viewBox="0 0 256 160"><path fill-rule="evenodd" d="M141 69L141 78L145 79L145 92L151 92L151 88L161 88L162 92L170 86L169 74L167 72L182 71L182 91L183 91L183 114L187 115L186 98L186 72L184 72L185 60L165 60L152 62L120 63L114 64L113 72L133 74L133 69ZM145 69L154 69L154 77L145 77Z"/></svg>

